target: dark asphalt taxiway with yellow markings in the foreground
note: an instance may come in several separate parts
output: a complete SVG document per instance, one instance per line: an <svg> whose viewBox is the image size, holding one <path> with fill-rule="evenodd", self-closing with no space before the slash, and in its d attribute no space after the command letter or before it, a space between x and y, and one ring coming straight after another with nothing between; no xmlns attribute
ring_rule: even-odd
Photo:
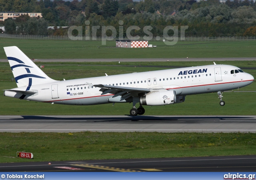
<svg viewBox="0 0 256 180"><path fill-rule="evenodd" d="M256 156L1 163L0 172L255 172Z"/></svg>

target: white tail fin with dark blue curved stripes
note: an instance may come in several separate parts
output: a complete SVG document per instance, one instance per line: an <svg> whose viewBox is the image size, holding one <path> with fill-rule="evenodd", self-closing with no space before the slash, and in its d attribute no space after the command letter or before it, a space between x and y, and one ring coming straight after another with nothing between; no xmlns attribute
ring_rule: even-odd
<svg viewBox="0 0 256 180"><path fill-rule="evenodd" d="M29 90L30 86L35 84L56 82L38 68L18 47L4 47L4 51L18 87L28 86L27 90Z"/></svg>

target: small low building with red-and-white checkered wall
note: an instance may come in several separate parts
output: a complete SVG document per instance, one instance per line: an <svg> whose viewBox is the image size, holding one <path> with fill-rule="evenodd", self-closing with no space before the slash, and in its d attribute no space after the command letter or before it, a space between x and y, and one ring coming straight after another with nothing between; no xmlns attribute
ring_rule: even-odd
<svg viewBox="0 0 256 180"><path fill-rule="evenodd" d="M119 48L147 48L146 40L116 40L116 47Z"/></svg>

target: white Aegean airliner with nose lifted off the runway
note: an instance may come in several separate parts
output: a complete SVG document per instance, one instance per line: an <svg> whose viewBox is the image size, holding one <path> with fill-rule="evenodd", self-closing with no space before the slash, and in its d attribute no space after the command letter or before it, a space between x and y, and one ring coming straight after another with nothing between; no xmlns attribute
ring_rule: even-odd
<svg viewBox="0 0 256 180"><path fill-rule="evenodd" d="M4 96L69 105L132 102L131 116L144 114L142 105L162 106L184 102L186 95L222 93L251 84L254 77L230 65L100 76L57 81L49 78L18 47L4 47L18 88L4 90ZM139 103L139 108L135 105Z"/></svg>

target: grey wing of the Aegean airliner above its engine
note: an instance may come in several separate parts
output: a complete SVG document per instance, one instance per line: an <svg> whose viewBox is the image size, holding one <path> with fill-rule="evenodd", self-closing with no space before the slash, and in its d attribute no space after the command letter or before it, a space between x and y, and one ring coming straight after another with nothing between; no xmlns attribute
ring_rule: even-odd
<svg viewBox="0 0 256 180"><path fill-rule="evenodd" d="M128 99L130 97L140 97L148 92L158 91L152 90L148 88L131 88L131 87L123 87L123 86L110 86L110 85L103 85L103 84L95 84L95 87L101 88L100 91L102 92L101 95L104 94L114 94L114 97L122 96L121 100Z"/></svg>

